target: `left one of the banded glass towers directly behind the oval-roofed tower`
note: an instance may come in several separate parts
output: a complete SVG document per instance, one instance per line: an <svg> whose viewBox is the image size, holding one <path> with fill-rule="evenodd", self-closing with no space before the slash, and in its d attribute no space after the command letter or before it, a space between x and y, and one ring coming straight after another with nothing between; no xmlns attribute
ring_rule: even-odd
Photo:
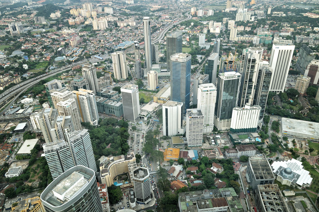
<svg viewBox="0 0 319 212"><path fill-rule="evenodd" d="M57 140L45 143L43 144L43 151L53 179L75 166L67 141Z"/></svg>

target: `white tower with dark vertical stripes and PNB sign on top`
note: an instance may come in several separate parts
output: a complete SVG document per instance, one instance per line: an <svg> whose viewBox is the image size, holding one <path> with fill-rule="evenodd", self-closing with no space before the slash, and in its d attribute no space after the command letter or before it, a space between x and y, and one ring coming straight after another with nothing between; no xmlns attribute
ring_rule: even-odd
<svg viewBox="0 0 319 212"><path fill-rule="evenodd" d="M269 91L284 92L288 77L291 59L293 58L294 45L273 44L270 55L272 76Z"/></svg>

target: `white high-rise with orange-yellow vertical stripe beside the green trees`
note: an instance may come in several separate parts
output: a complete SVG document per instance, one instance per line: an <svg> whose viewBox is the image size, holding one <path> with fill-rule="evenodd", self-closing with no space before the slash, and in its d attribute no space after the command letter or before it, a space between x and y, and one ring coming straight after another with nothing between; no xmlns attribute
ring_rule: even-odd
<svg viewBox="0 0 319 212"><path fill-rule="evenodd" d="M91 125L98 125L99 112L96 106L95 94L91 90L79 89L72 91L73 98L77 103L78 115L81 122L88 122Z"/></svg>

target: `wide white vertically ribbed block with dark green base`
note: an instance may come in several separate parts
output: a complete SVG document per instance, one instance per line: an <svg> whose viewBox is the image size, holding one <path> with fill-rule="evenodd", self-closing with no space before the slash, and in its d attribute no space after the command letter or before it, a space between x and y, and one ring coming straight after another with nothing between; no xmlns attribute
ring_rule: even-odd
<svg viewBox="0 0 319 212"><path fill-rule="evenodd" d="M260 106L250 106L250 104L246 104L243 108L235 107L233 109L230 131L234 133L255 132L260 110Z"/></svg>

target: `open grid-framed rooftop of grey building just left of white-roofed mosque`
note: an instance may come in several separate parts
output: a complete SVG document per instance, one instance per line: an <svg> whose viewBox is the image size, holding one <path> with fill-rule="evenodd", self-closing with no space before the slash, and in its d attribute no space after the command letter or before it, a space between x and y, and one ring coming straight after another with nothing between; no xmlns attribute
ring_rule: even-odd
<svg viewBox="0 0 319 212"><path fill-rule="evenodd" d="M265 154L250 156L248 164L251 166L256 180L275 178Z"/></svg>

